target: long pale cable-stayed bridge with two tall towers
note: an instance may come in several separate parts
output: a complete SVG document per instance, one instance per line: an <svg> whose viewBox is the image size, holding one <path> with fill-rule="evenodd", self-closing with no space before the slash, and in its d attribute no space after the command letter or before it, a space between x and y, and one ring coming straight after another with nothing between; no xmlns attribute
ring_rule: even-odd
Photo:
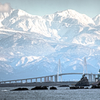
<svg viewBox="0 0 100 100"><path fill-rule="evenodd" d="M86 73L85 73L85 70L86 70ZM89 82L96 82L96 76L98 76L98 74L87 73L86 58L84 58L83 73L62 73L61 72L61 64L60 64L60 60L59 60L57 74L55 74L55 75L1 81L0 84L19 84L19 83L27 84L27 83L38 83L38 82L40 82L40 83L47 83L47 82L57 83L57 82L64 82L62 80L63 75L85 75L88 78ZM59 79L61 79L61 80L59 80ZM69 83L71 83L71 82L69 82ZM72 83L75 83L75 82L73 81Z"/></svg>

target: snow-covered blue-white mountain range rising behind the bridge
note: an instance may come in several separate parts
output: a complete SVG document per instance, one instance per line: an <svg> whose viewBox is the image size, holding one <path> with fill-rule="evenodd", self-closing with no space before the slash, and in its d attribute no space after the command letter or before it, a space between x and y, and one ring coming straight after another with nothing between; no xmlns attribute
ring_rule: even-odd
<svg viewBox="0 0 100 100"><path fill-rule="evenodd" d="M100 15L74 10L43 17L20 9L0 13L0 80L63 72L97 73L100 68Z"/></svg>

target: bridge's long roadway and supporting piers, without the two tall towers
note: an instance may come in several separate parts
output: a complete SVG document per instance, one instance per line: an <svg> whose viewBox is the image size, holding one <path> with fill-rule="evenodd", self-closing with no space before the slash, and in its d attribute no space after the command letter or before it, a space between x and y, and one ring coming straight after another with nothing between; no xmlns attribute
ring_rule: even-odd
<svg viewBox="0 0 100 100"><path fill-rule="evenodd" d="M62 73L62 75L83 75L83 73ZM98 74L90 74L85 73L85 76L88 77L89 82L96 81L95 77ZM27 79L17 79L17 80L8 80L8 81L1 81L0 84L9 84L9 83L33 83L33 82L58 82L58 75L49 75L49 76L42 76L42 77L35 77L35 78L27 78ZM39 80L38 80L39 79ZM44 81L43 81L44 79Z"/></svg>

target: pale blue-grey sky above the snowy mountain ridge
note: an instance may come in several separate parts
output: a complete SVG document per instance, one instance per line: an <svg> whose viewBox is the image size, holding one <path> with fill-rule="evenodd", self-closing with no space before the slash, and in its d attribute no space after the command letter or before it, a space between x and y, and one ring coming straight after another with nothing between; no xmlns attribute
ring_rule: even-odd
<svg viewBox="0 0 100 100"><path fill-rule="evenodd" d="M100 0L0 0L0 3L9 3L14 9L39 16L67 9L76 10L91 18L100 14Z"/></svg>

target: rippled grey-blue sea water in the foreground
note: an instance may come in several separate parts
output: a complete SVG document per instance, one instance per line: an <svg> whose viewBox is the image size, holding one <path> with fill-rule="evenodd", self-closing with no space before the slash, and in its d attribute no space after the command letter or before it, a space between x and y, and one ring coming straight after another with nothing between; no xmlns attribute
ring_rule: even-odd
<svg viewBox="0 0 100 100"><path fill-rule="evenodd" d="M18 87L0 87L0 100L100 100L100 89L10 91Z"/></svg>

